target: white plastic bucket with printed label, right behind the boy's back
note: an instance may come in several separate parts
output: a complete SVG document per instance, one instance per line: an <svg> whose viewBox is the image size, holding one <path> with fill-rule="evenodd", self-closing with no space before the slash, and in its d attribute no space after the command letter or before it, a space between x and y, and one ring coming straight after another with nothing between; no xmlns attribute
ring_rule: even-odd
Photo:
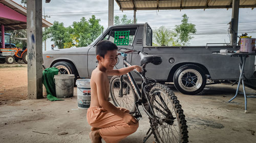
<svg viewBox="0 0 256 143"><path fill-rule="evenodd" d="M89 108L91 103L91 79L77 79L77 106L80 109Z"/></svg>

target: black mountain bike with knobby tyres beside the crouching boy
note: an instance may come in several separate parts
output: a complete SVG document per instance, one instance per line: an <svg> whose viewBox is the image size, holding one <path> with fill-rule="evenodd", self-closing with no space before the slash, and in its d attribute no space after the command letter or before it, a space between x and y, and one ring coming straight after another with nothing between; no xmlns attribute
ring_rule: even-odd
<svg viewBox="0 0 256 143"><path fill-rule="evenodd" d="M123 57L123 66L132 66L126 61L127 53L137 52L136 50L119 49ZM138 106L142 106L150 119L150 129L143 139L145 142L152 134L158 143L167 142L188 142L188 131L185 115L181 109L179 100L166 85L157 83L155 79L147 78L146 65L152 63L159 65L162 58L156 55L147 55L139 51L140 64L143 71L139 73L133 70L141 79L141 87L136 83L131 72L126 75L113 76L110 81L110 94L115 106L129 109L135 118L142 115Z"/></svg>

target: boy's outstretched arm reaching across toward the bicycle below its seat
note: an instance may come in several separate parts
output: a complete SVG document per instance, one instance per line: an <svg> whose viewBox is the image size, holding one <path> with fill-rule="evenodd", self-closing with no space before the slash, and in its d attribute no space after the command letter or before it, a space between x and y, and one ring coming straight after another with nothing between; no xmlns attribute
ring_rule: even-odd
<svg viewBox="0 0 256 143"><path fill-rule="evenodd" d="M121 69L117 69L117 70L107 70L106 74L108 74L109 76L123 75L123 74L129 73L130 71L135 70L135 69L138 72L142 72L142 68L140 66L133 65L130 67L125 67L125 68L121 68Z"/></svg>

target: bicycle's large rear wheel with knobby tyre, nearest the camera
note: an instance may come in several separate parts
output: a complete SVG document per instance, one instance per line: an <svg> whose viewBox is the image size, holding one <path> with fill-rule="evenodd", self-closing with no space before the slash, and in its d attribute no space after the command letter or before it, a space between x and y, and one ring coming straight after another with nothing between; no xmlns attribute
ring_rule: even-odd
<svg viewBox="0 0 256 143"><path fill-rule="evenodd" d="M150 103L156 120L150 120L158 143L188 142L185 116L179 100L166 86L157 83L150 90Z"/></svg>

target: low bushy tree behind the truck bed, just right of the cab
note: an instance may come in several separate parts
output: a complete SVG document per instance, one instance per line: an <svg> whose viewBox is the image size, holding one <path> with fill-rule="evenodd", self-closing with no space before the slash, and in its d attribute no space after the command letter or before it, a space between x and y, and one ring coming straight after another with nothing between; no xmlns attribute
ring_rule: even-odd
<svg viewBox="0 0 256 143"><path fill-rule="evenodd" d="M153 31L153 46L177 46L178 43L174 39L175 35L173 31L161 26Z"/></svg>

